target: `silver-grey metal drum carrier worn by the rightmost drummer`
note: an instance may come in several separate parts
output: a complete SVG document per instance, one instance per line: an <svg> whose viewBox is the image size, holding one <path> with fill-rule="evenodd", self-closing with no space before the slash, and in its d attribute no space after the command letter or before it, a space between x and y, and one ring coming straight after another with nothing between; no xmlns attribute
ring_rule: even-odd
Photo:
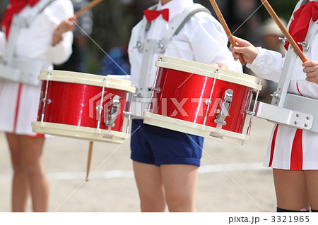
<svg viewBox="0 0 318 225"><path fill-rule="evenodd" d="M306 2L300 1L295 8L299 8L300 5ZM305 41L298 43L302 45L304 52L310 51L312 39L317 30L318 21L313 23L310 30L308 30ZM287 39L283 38L282 41L285 43ZM290 45L285 56L277 90L271 94L273 97L271 104L257 102L255 116L273 123L318 133L318 99L288 93L293 65L295 65L297 57L293 47Z"/></svg>

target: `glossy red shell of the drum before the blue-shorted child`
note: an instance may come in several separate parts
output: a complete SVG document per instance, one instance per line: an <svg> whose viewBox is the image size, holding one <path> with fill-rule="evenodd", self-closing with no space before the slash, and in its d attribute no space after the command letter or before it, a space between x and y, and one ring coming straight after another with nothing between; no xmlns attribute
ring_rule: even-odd
<svg viewBox="0 0 318 225"><path fill-rule="evenodd" d="M203 125L213 82L214 78L205 75L159 67L154 87L160 91L153 91L149 112ZM228 89L233 97L222 129L242 133L252 88L224 80L216 79L205 125L216 128L217 110Z"/></svg>

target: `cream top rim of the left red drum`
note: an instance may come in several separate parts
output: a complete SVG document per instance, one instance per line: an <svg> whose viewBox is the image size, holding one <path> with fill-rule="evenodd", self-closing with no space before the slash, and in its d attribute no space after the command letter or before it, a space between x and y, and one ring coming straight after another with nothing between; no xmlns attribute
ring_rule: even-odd
<svg viewBox="0 0 318 225"><path fill-rule="evenodd" d="M64 83L76 83L82 85L107 87L117 90L124 90L131 93L136 92L136 88L132 86L131 81L129 80L119 78L107 78L107 76L104 75L95 75L91 73L41 70L38 79L43 81L50 80Z"/></svg>

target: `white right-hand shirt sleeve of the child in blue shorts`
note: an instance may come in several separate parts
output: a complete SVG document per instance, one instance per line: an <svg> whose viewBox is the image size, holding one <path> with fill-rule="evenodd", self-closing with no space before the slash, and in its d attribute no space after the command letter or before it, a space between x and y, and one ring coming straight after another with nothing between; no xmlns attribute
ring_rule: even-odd
<svg viewBox="0 0 318 225"><path fill-rule="evenodd" d="M242 65L233 59L228 49L228 37L218 20L205 12L196 13L191 20L194 21L189 43L196 61L206 64L223 61L230 70L242 73Z"/></svg>

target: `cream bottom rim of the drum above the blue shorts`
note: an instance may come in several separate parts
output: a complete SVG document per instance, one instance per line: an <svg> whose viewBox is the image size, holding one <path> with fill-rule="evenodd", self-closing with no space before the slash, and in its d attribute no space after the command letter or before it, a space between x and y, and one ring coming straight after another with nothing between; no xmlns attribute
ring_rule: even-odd
<svg viewBox="0 0 318 225"><path fill-rule="evenodd" d="M159 126L170 130L176 130L182 133L189 133L192 135L201 136L204 138L212 138L215 140L222 140L237 145L243 145L245 140L249 140L249 135L242 133L235 133L229 130L217 130L211 126L204 126L198 123L192 123L189 121L182 121L177 118L171 118L169 116L161 116L150 112L143 114L143 123L147 123L153 126ZM216 132L224 135L223 139L216 138L210 135L211 132Z"/></svg>

